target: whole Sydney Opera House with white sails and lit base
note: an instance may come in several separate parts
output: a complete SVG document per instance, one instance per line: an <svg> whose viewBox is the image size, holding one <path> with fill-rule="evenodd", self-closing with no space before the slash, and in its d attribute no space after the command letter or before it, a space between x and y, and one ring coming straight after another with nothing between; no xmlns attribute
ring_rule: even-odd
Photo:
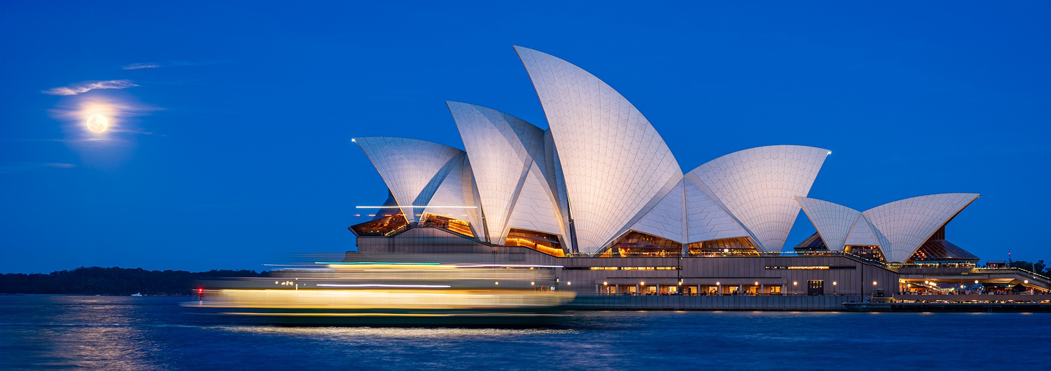
<svg viewBox="0 0 1051 371"><path fill-rule="evenodd" d="M936 289L925 268L976 269L978 257L945 235L976 193L864 211L813 199L831 152L801 145L742 149L683 169L610 85L559 58L516 50L549 128L448 102L463 149L353 139L389 189L374 219L350 227L358 251L544 264L559 267L565 288L618 294L870 294ZM786 245L800 209L817 233ZM949 273L953 287L978 274Z"/></svg>

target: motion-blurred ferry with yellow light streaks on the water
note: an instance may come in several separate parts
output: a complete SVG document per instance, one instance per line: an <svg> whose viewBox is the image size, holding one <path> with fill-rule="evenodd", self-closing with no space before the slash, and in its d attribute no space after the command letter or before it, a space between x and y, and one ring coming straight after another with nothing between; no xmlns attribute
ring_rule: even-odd
<svg viewBox="0 0 1051 371"><path fill-rule="evenodd" d="M202 283L202 308L238 322L292 325L530 325L560 316L575 296L556 266L316 263L269 279Z"/></svg>

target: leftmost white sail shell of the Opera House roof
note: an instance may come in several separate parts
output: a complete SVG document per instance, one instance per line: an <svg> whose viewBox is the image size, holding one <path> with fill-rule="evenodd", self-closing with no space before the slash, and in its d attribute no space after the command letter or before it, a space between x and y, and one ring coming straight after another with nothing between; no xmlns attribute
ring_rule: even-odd
<svg viewBox="0 0 1051 371"><path fill-rule="evenodd" d="M366 137L353 141L379 171L409 223L419 220L417 215L424 212L446 176L454 167L462 166L466 156L462 150L416 139Z"/></svg>

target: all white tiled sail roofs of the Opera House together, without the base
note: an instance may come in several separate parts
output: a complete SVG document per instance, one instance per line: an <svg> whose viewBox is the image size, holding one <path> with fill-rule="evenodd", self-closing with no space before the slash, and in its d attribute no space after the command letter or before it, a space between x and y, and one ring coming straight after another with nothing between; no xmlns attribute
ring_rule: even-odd
<svg viewBox="0 0 1051 371"><path fill-rule="evenodd" d="M631 230L681 244L748 238L780 251L802 207L830 249L880 246L901 262L977 197L932 194L865 212L809 199L830 152L799 145L744 149L683 173L654 126L610 85L559 58L515 49L548 130L448 102L466 152L405 138L355 140L410 223L423 212L458 215L481 241L503 244L510 228L521 228L580 252Z"/></svg>

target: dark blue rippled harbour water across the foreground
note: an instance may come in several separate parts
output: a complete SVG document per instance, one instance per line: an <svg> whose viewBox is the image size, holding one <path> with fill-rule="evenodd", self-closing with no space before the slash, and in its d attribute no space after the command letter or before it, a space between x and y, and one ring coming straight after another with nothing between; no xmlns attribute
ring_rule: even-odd
<svg viewBox="0 0 1051 371"><path fill-rule="evenodd" d="M580 311L551 328L235 326L190 297L0 296L0 370L1047 369L1051 313Z"/></svg>

